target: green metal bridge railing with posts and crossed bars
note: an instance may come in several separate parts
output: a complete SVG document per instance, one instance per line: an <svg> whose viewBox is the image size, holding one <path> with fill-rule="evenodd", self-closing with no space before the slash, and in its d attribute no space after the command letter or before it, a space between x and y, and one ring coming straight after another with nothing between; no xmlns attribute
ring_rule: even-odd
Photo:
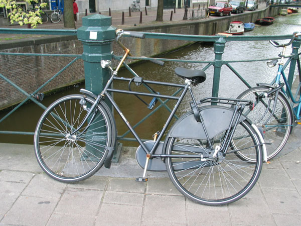
<svg viewBox="0 0 301 226"><path fill-rule="evenodd" d="M96 20L96 22L95 22ZM71 57L73 58L70 63L68 63L63 69L61 69L58 73L53 75L47 82L45 82L41 87L35 90L33 93L27 93L8 78L5 75L1 74L0 77L4 79L6 82L13 85L16 89L22 92L26 99L18 104L12 111L8 113L7 116L0 120L0 123L3 122L7 117L9 117L16 109L18 109L22 104L24 104L27 100L32 100L33 102L37 103L42 108L46 108L42 103L37 101L33 98L33 95L39 92L45 85L51 82L54 78L59 76L65 69L70 67L74 62L79 59L84 60L85 66L85 78L86 78L86 88L92 92L99 93L103 87L103 84L106 83L106 79L108 78L109 74L107 70L103 70L100 67L100 60L101 59L112 59L116 58L119 59L120 56L114 56L111 54L111 43L113 42L115 35L115 28L111 27L110 23L104 23L104 27L97 27L100 21L97 20L108 20L107 17L102 15L94 15L88 16L83 18L83 27L76 30L43 30L43 29L1 29L0 33L9 33L9 34L44 34L44 35L77 35L78 39L82 41L84 45L84 53L82 55L72 55L72 54L33 54L33 53L4 53L0 52L0 55L23 55L23 56L53 56L53 57ZM97 25L96 25L97 24ZM97 33L96 36L91 36L91 32ZM92 39L91 39L92 37ZM97 37L96 39L94 37ZM200 63L206 64L203 68L206 71L209 67L214 67L214 75L213 75L213 86L212 86L212 96L218 96L219 91L219 82L220 82L220 75L221 75L221 67L223 65L227 66L247 87L251 87L247 81L231 66L232 63L237 62L256 62L256 61L268 61L271 59L279 59L279 58L267 58L267 59L251 59L251 60L239 60L239 61L224 61L222 60L222 55L224 53L224 49L227 42L241 42L241 41L268 41L268 40L285 40L291 39L292 35L276 35L276 36L199 36L199 35L180 35L180 34L162 34L162 33L145 33L145 38L149 39L168 39L168 40L183 40L183 41L190 41L190 42L213 42L214 43L214 54L215 58L212 61L198 61L198 60L182 60L182 59L166 59L166 58L141 58L141 57L128 57L131 59L138 59L138 60L145 60L145 59L158 59L162 61L174 61L174 62L189 62L189 63ZM290 64L289 74L288 74L288 81L290 85L292 83L292 78L295 70L295 62L297 59L298 49L300 47L301 40L298 38L292 44L292 55L293 60ZM91 48L93 46L93 48ZM91 52L94 51L94 52ZM129 69L129 68L128 68ZM134 76L136 74L131 71ZM98 79L91 79L91 75L93 74L100 74ZM87 79L88 78L88 79ZM89 81L89 82L87 82ZM95 83L95 84L94 84ZM173 95L176 95L180 90L175 92ZM133 126L133 128L137 127L143 121L145 121L149 116L154 114L160 107L164 106L167 110L171 111L171 109L166 105L167 100L159 100L161 104L157 106L148 114L145 118L143 118L140 122ZM126 138L125 136L129 133L127 131L123 135L119 136L119 139L122 140L131 140L130 138ZM0 131L0 134L19 134L19 135L34 135L34 132L12 132L12 131Z"/></svg>

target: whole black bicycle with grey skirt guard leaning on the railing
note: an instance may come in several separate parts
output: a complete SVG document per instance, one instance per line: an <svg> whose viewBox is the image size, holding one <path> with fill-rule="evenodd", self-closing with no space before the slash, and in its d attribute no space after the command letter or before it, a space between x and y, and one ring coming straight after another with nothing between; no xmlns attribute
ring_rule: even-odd
<svg viewBox="0 0 301 226"><path fill-rule="evenodd" d="M115 70L110 61L101 61L102 68L112 72L102 92L95 94L81 89L82 94L64 96L53 102L41 116L34 144L42 169L56 180L75 182L92 176L103 165L109 168L117 137L115 121L106 103L109 102L140 145L136 159L144 172L137 181L148 180L146 170L167 170L183 195L207 205L231 203L246 195L259 177L265 153L259 131L242 115L243 109L252 105L251 101L217 97L196 100L192 87L205 81L206 74L202 70L176 68L184 84L144 80L139 76L118 77L122 64L129 68L125 63L129 50L120 42L121 36L143 39L145 35L122 30L117 30L116 35L125 54ZM128 82L129 87L143 84L150 91L110 88L114 80ZM178 96L160 94L154 85L177 87L181 92ZM191 110L167 132L187 91L191 95ZM114 92L140 98L151 96L150 109L162 99L176 103L161 133L152 141L142 142L112 98ZM165 133L165 141L161 142ZM239 158L241 154L256 161L243 161Z"/></svg>

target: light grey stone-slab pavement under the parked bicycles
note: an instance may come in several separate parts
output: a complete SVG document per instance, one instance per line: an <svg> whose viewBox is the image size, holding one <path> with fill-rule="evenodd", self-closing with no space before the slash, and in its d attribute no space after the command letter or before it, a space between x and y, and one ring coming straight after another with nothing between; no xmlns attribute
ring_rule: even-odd
<svg viewBox="0 0 301 226"><path fill-rule="evenodd" d="M166 172L143 170L134 148L87 180L66 184L38 165L32 145L0 144L0 225L300 225L301 129L263 169L255 187L225 206L186 199Z"/></svg>

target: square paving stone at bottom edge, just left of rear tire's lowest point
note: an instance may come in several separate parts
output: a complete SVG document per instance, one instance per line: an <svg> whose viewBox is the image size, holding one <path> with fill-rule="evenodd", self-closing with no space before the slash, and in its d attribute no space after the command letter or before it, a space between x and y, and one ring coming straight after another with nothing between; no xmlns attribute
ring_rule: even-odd
<svg viewBox="0 0 301 226"><path fill-rule="evenodd" d="M145 225L148 222L150 225L158 222L161 225L186 224L184 196L146 195L142 222Z"/></svg>

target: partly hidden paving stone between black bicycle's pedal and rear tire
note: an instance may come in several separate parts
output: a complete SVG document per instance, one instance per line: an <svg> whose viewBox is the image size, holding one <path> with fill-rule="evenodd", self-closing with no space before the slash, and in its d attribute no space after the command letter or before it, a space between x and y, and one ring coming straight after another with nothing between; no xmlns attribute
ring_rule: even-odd
<svg viewBox="0 0 301 226"><path fill-rule="evenodd" d="M152 179L147 182L147 194L182 195L170 178Z"/></svg>

